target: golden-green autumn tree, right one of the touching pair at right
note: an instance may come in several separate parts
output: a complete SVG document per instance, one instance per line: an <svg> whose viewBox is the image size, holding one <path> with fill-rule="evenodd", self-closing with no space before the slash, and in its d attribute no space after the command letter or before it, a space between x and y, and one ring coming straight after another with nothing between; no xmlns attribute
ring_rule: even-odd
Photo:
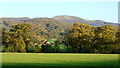
<svg viewBox="0 0 120 68"><path fill-rule="evenodd" d="M116 40L116 28L111 25L105 25L95 28L95 36L92 41L92 48L95 50L107 51L110 45Z"/></svg>

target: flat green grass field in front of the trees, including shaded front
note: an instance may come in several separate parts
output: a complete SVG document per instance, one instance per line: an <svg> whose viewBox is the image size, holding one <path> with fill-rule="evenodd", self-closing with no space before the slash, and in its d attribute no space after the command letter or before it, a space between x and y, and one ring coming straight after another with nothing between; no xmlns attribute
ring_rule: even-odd
<svg viewBox="0 0 120 68"><path fill-rule="evenodd" d="M118 54L2 53L3 66L116 66Z"/></svg>

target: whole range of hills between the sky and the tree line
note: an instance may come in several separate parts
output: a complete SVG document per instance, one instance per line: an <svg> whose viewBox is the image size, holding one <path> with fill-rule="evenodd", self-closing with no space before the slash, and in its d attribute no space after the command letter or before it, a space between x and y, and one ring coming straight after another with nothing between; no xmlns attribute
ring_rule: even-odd
<svg viewBox="0 0 120 68"><path fill-rule="evenodd" d="M59 38L72 26L73 23L80 22L91 26L99 27L103 25L118 26L117 23L105 22L101 20L86 20L75 16L55 16L53 18L0 18L0 25L4 23L3 28L9 29L12 25L19 23L32 24L32 31L38 35L46 36L46 38ZM120 30L120 29L119 29Z"/></svg>

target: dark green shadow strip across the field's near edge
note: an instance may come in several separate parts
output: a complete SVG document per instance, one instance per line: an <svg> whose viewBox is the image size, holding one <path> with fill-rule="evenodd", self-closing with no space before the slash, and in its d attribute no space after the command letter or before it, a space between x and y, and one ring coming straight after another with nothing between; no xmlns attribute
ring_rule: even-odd
<svg viewBox="0 0 120 68"><path fill-rule="evenodd" d="M2 68L118 68L117 61L70 63L3 63Z"/></svg>

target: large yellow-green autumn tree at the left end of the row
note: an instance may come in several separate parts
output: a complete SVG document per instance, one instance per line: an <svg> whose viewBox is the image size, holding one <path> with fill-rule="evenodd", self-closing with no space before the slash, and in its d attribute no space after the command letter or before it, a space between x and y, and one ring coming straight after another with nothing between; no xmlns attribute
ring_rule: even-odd
<svg viewBox="0 0 120 68"><path fill-rule="evenodd" d="M11 50L13 52L25 52L26 44L30 40L30 30L31 25L24 23L12 26L10 31L3 31L2 43L8 48L8 52Z"/></svg>

